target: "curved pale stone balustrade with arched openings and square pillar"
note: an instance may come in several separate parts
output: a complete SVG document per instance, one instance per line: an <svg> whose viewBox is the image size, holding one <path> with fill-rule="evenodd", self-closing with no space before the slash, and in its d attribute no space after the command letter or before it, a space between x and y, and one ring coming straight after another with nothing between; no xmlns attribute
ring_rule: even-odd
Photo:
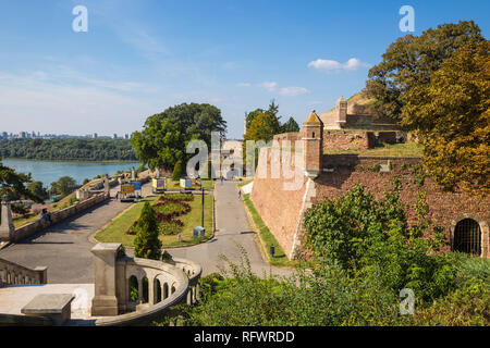
<svg viewBox="0 0 490 348"><path fill-rule="evenodd" d="M149 324L173 306L199 299L199 264L184 259L117 259L120 246L99 244L93 249L96 261L91 315L99 316L96 325ZM133 300L132 287L137 288Z"/></svg>

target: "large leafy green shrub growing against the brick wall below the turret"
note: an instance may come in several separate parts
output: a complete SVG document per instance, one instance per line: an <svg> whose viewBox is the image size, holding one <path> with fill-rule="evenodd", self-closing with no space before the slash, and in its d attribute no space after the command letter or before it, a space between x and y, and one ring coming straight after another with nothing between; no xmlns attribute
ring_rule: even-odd
<svg viewBox="0 0 490 348"><path fill-rule="evenodd" d="M422 238L429 226L424 219L408 226L401 184L393 185L381 200L356 185L335 201L314 206L305 216L305 243L317 258L328 258L351 274L376 274L392 291L412 288L419 301L428 301L442 291L433 279L438 260L428 256L439 243Z"/></svg>

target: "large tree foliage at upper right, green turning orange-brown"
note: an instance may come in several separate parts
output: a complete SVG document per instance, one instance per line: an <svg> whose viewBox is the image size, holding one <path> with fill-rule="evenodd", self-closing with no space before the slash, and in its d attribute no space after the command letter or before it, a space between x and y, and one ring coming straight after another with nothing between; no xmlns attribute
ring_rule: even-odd
<svg viewBox="0 0 490 348"><path fill-rule="evenodd" d="M489 41L473 21L399 38L369 71L375 109L415 130L446 190L490 192Z"/></svg>

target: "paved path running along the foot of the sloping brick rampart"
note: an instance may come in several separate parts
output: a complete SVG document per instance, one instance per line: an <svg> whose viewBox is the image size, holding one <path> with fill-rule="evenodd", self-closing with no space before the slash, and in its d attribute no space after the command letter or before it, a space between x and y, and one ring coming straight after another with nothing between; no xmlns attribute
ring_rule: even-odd
<svg viewBox="0 0 490 348"><path fill-rule="evenodd" d="M225 256L232 262L241 260L242 246L248 256L252 270L261 275L264 271L273 274L287 275L290 270L271 269L262 258L256 241L255 234L248 224L244 203L238 200L238 189L235 182L217 182L216 185L216 220L217 233L212 240L187 248L169 249L172 256L186 258L201 264L204 275L218 272L219 266L225 265L220 254Z"/></svg>

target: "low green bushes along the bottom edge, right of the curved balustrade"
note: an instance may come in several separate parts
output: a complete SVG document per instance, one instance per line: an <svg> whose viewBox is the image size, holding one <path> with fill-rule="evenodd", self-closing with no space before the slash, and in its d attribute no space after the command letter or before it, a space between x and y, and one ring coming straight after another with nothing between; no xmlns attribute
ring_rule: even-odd
<svg viewBox="0 0 490 348"><path fill-rule="evenodd" d="M224 275L224 276L223 276ZM201 300L186 323L206 326L394 325L399 299L379 283L352 278L334 263L289 278L259 277L248 259L201 278Z"/></svg>

